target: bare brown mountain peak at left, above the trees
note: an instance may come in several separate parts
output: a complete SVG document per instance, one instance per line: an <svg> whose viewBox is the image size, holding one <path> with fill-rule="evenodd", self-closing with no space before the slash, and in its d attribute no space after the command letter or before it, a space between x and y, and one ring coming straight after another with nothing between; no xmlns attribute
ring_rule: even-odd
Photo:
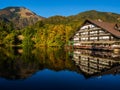
<svg viewBox="0 0 120 90"><path fill-rule="evenodd" d="M24 7L7 7L1 9L0 18L13 22L16 29L22 29L44 19Z"/></svg>

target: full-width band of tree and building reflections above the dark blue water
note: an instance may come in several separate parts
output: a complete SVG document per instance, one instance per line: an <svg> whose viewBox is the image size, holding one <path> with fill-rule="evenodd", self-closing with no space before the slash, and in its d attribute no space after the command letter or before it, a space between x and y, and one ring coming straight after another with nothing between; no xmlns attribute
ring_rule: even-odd
<svg viewBox="0 0 120 90"><path fill-rule="evenodd" d="M68 70L85 78L120 73L120 54L90 50L65 51L61 48L0 48L0 77L26 79L50 69Z"/></svg>

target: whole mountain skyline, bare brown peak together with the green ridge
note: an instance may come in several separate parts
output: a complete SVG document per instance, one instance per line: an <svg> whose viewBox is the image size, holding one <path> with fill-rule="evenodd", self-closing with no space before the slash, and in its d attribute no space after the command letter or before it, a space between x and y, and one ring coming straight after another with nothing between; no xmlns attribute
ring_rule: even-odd
<svg viewBox="0 0 120 90"><path fill-rule="evenodd" d="M52 16L45 19L25 7L7 7L0 9L0 20L1 19L13 22L16 29L22 29L41 20L45 24L78 24L77 26L86 19L102 20L105 22L120 22L120 14L90 10L68 17Z"/></svg>

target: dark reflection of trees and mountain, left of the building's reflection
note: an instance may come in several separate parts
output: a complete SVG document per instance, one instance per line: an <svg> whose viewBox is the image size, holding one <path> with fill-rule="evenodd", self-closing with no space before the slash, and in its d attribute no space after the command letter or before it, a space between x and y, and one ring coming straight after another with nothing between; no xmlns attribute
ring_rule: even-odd
<svg viewBox="0 0 120 90"><path fill-rule="evenodd" d="M25 79L43 69L79 72L63 49L0 48L0 77Z"/></svg>

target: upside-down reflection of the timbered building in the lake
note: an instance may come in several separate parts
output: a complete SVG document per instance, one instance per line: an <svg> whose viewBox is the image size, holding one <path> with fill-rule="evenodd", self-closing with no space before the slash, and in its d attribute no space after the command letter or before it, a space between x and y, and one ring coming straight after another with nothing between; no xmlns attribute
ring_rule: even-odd
<svg viewBox="0 0 120 90"><path fill-rule="evenodd" d="M73 60L86 78L120 73L120 53L76 49Z"/></svg>

